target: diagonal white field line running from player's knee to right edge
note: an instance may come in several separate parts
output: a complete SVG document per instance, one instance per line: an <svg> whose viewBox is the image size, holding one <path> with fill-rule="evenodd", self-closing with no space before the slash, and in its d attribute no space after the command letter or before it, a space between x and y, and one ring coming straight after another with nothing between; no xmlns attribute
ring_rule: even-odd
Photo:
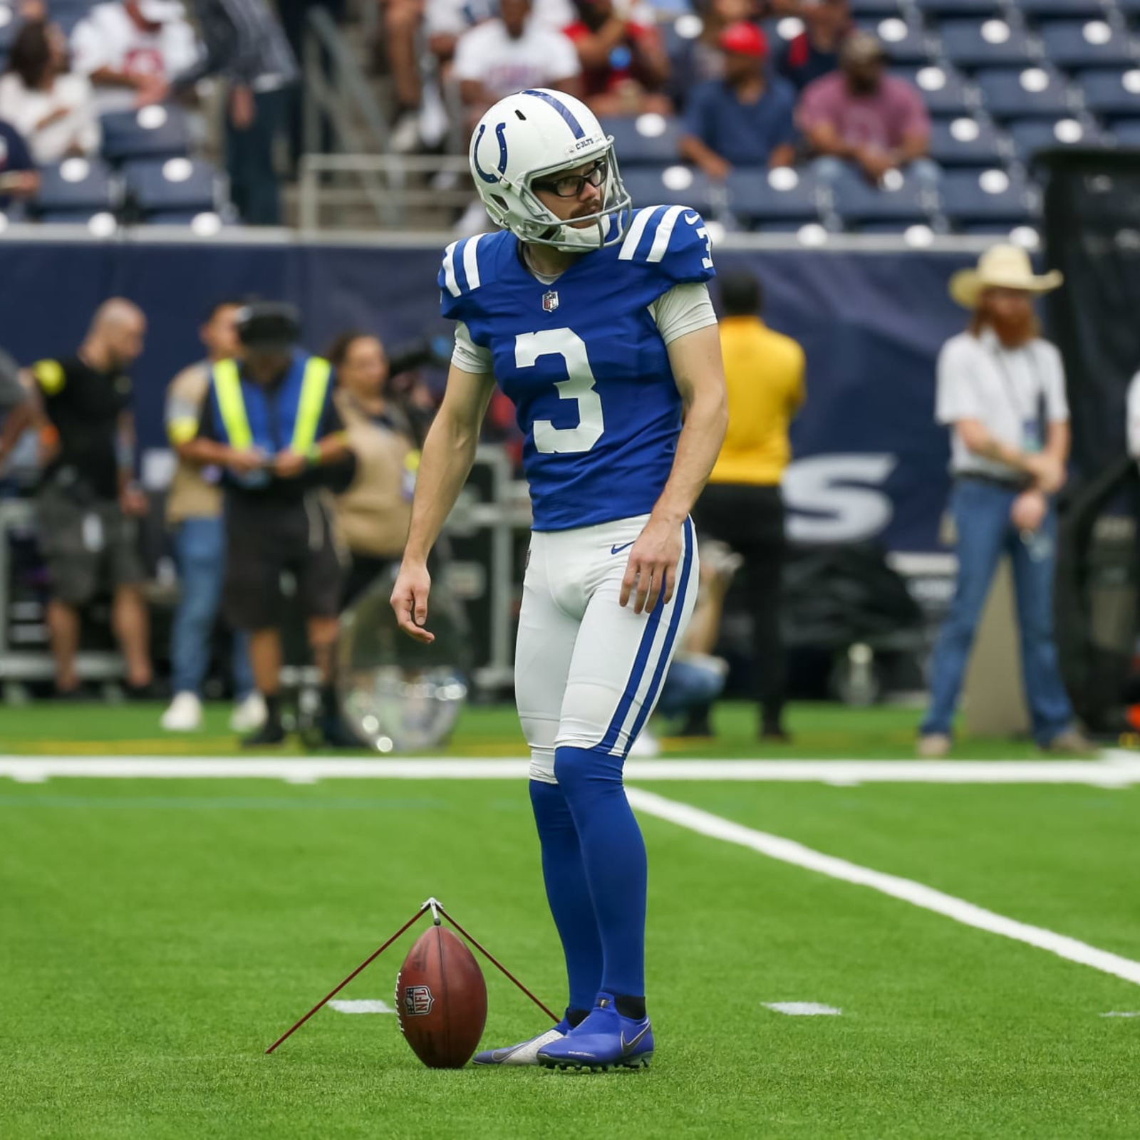
<svg viewBox="0 0 1140 1140"><path fill-rule="evenodd" d="M678 826L687 828L698 834L708 836L711 839L720 839L727 844L736 844L740 847L749 847L769 858L780 860L783 863L791 863L796 866L805 868L808 871L817 871L820 874L829 876L832 879L841 879L844 882L854 882L861 887L870 887L880 894L890 895L891 898L899 898L904 903L920 906L936 914L945 915L963 926L975 927L978 930L988 930L991 934L1000 934L1015 942L1024 942L1026 945L1036 946L1039 950L1047 950L1058 958L1068 959L1070 962L1080 962L1082 966L1091 966L1094 970L1104 974L1112 974L1114 977L1123 978L1140 985L1140 962L1121 958L1119 954L1109 953L1106 950L1098 950L1088 943L1078 942L1062 934L1045 930L1043 927L1029 926L1026 922L1018 922L1016 919L1008 919L1003 914L995 914L974 903L966 902L964 898L955 898L953 895L943 894L933 887L927 887L912 879L902 879L898 876L885 874L881 871L872 871L870 868L860 866L857 863L848 863L847 860L837 858L833 855L824 855L822 852L813 850L803 844L797 844L791 839L782 839L765 831L756 831L746 828L743 824L733 823L723 816L705 812L699 807L689 804L679 804L673 799L666 799L656 792L644 791L641 788L628 789L629 803L641 813L653 815L660 820L668 820Z"/></svg>

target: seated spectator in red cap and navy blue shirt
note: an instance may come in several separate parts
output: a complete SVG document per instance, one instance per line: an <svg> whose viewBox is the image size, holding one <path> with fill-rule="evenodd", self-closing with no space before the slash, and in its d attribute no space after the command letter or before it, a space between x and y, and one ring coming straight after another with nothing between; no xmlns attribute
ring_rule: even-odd
<svg viewBox="0 0 1140 1140"><path fill-rule="evenodd" d="M720 33L724 79L697 87L685 109L682 157L723 181L734 166L790 166L796 157L796 92L768 75L764 33L743 21Z"/></svg>

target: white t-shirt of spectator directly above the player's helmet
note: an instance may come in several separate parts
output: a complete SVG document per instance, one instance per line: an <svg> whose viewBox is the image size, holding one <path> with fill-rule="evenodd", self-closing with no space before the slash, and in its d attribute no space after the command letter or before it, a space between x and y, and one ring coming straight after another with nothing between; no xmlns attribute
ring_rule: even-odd
<svg viewBox="0 0 1140 1140"><path fill-rule="evenodd" d="M518 40L507 35L500 19L489 19L464 32L455 48L455 78L481 82L492 99L549 87L580 71L573 43L534 17Z"/></svg>

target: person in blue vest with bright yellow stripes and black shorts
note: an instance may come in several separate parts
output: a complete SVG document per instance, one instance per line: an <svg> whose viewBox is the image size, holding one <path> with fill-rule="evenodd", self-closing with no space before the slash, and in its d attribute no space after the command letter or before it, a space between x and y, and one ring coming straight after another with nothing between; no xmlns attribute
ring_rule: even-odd
<svg viewBox="0 0 1140 1140"><path fill-rule="evenodd" d="M355 458L333 404L332 366L298 347L300 318L288 304L259 302L237 315L238 359L213 366L197 434L184 457L221 470L228 562L222 612L250 633L253 678L266 722L243 743L279 744L278 677L285 571L296 581L292 608L308 622L324 685L323 723L336 726L332 683L343 561L329 491L351 482ZM335 727L331 728L335 732Z"/></svg>

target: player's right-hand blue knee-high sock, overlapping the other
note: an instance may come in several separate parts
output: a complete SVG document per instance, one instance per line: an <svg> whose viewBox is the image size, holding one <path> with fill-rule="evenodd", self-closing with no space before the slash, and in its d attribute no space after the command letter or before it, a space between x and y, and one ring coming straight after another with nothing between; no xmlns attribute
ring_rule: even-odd
<svg viewBox="0 0 1140 1140"><path fill-rule="evenodd" d="M554 775L578 830L581 862L602 939L602 984L645 994L645 842L621 783L621 758L559 748Z"/></svg>

